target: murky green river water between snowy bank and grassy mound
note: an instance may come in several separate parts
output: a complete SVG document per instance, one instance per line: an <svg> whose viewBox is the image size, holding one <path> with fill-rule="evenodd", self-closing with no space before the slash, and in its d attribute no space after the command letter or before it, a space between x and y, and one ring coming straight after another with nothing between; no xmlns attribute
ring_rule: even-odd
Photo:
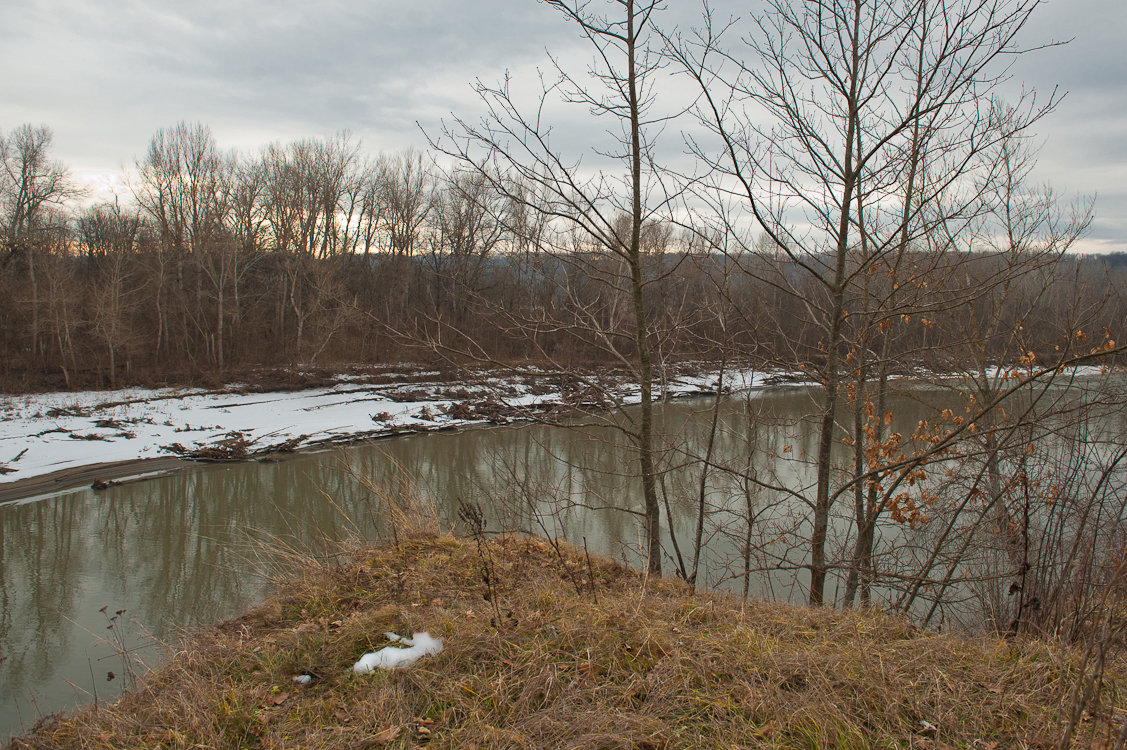
<svg viewBox="0 0 1127 750"><path fill-rule="evenodd" d="M813 473L804 459L815 450L816 433L802 417L810 399L801 388L728 399L715 458L770 471L787 486L808 485ZM659 427L674 448L671 465L703 452L711 404L663 407ZM911 432L932 408L917 395L902 398L897 423ZM754 434L748 409L761 415ZM334 540L387 538L383 501L357 477L392 494L412 486L433 498L447 527L459 501L478 502L491 529L562 533L586 540L592 552L636 562L636 517L609 510L640 505L630 475L630 451L614 430L525 424L403 435L281 462L199 466L99 493L83 488L0 505L0 740L95 694L119 695L128 673L122 647L131 660L152 665L165 653L153 639L174 642L185 628L260 601L274 566L259 542L323 554ZM696 467L666 478L682 540L693 524L699 480ZM746 527L735 515L727 524L724 518L743 513L747 500L740 482L724 473L713 471L708 486L720 520L710 527L702 580L738 592ZM755 512L764 513L757 521L762 549L771 548L763 544L771 535L802 533L780 512L787 502L763 493L754 498ZM672 546L669 554L667 568ZM753 562L763 568L748 582L753 595L804 595L800 548L780 545L778 555Z"/></svg>

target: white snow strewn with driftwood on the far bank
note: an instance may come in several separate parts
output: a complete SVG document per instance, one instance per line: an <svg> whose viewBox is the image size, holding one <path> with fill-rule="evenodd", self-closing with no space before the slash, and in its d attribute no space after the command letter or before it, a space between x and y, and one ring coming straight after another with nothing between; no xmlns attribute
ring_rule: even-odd
<svg viewBox="0 0 1127 750"><path fill-rule="evenodd" d="M428 376L431 379L428 379ZM329 387L248 392L142 389L0 397L0 486L100 464L181 456L251 458L362 438L508 422L532 414L549 418L579 408L635 404L636 385L613 376L575 378L531 373L438 373L401 378L344 376ZM728 372L725 389L767 382L753 371ZM713 391L716 376L681 373L663 383L668 397Z"/></svg>

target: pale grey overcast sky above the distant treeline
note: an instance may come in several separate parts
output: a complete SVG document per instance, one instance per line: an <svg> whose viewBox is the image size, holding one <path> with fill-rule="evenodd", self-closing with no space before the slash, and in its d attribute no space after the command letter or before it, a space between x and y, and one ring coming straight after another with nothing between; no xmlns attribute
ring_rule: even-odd
<svg viewBox="0 0 1127 750"><path fill-rule="evenodd" d="M691 20L696 0L667 0ZM758 0L713 0L724 16ZM1094 195L1085 249L1127 250L1127 2L1048 0L1019 62L1028 87L1067 91L1039 127L1037 176ZM545 50L582 55L575 29L535 0L0 0L0 130L45 124L74 174L119 179L158 127L210 125L220 144L348 130L371 152L421 147L470 82L533 81Z"/></svg>

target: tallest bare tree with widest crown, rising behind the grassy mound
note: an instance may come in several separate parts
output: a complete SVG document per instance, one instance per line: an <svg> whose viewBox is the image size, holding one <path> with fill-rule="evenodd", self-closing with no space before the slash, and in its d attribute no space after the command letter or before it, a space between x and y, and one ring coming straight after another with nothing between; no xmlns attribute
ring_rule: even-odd
<svg viewBox="0 0 1127 750"><path fill-rule="evenodd" d="M769 0L734 51L710 21L674 55L702 92L700 120L718 147L696 152L715 170L711 201L734 237L762 229L801 270L793 286L818 332L810 364L822 386L817 480L809 504L809 602L825 599L834 498L832 451L843 378L852 363L851 290L942 214L978 205L960 191L977 156L1005 135L991 96L1019 53L1039 0ZM1053 105L1024 104L1029 126ZM1019 122L1019 121L1012 121ZM747 250L752 244L745 244ZM860 252L859 252L860 250Z"/></svg>

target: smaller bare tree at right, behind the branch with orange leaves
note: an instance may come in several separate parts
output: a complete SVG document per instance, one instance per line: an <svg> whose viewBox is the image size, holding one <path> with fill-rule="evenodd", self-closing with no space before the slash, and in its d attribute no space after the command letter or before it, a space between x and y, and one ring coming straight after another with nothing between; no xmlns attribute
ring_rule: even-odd
<svg viewBox="0 0 1127 750"><path fill-rule="evenodd" d="M935 518L935 541L902 602L909 608L939 568L941 583L930 586L933 599L926 617L932 618L956 568L980 568L982 561L996 553L992 563L996 568L990 575L979 570L977 585L990 602L984 607L988 619L1004 630L1011 621L1020 624L1024 601L1039 598L1027 598L1026 592L1037 588L1038 576L1046 573L1031 565L1030 535L1036 532L1030 523L1044 518L1054 501L1042 504L1041 497L1030 504L1035 494L1041 494L1030 477L1051 474L1045 464L1059 450L1054 434L1086 421L1084 405L1099 390L1071 368L1059 372L1055 368L1077 358L1101 361L1110 350L1097 336L1094 347L1085 343L1084 330L1092 330L1093 320L1100 319L1103 300L1070 277L1072 262L1066 255L1089 227L1090 205L1061 206L1049 191L1030 185L1033 155L1020 139L1001 141L990 155L984 179L991 189L983 192L990 196L988 211L958 235L943 237L961 244L965 252L937 289L943 301L932 315L946 341L938 368L947 373L943 385L966 404L940 418L962 423L974 414L976 425L957 447L961 467L949 493L965 498L960 508L969 501L979 522L967 524L966 518L946 513ZM992 408L979 406L987 404ZM1077 460L1076 468L1083 464ZM1055 515L1053 510L1048 513ZM969 562L971 556L977 562ZM1005 615L1004 589L1011 584L1021 593L1014 599L1014 617Z"/></svg>

